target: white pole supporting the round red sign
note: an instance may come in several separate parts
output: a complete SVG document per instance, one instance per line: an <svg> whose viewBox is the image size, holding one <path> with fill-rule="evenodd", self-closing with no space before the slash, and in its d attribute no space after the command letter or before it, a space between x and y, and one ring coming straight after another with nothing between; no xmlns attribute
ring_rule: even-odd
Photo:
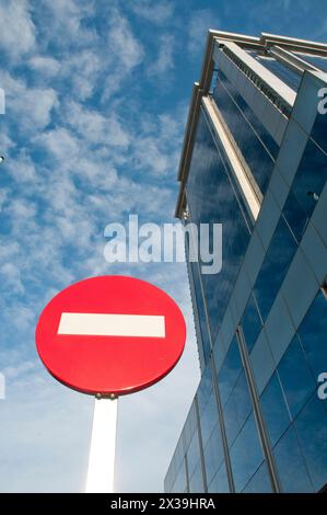
<svg viewBox="0 0 327 515"><path fill-rule="evenodd" d="M113 493L118 399L95 398L86 493Z"/></svg>

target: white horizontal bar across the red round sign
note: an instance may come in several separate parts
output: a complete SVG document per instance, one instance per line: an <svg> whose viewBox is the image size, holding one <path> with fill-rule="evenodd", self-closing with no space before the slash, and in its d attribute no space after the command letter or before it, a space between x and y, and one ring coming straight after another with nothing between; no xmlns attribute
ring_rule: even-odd
<svg viewBox="0 0 327 515"><path fill-rule="evenodd" d="M156 314L61 313L58 334L165 337L165 317Z"/></svg>

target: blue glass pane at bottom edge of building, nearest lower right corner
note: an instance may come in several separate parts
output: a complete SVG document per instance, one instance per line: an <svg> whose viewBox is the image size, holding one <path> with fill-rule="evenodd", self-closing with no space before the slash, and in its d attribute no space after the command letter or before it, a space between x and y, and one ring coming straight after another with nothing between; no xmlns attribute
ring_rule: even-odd
<svg viewBox="0 0 327 515"><path fill-rule="evenodd" d="M313 492L313 485L291 425L273 449L283 492Z"/></svg>

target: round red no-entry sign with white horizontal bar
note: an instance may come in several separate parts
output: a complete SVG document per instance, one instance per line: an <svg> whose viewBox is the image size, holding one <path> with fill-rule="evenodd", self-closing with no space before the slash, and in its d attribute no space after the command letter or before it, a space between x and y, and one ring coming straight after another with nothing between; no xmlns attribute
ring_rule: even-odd
<svg viewBox="0 0 327 515"><path fill-rule="evenodd" d="M121 396L162 379L185 345L184 317L160 288L126 276L91 277L50 300L36 328L52 376L90 394Z"/></svg>

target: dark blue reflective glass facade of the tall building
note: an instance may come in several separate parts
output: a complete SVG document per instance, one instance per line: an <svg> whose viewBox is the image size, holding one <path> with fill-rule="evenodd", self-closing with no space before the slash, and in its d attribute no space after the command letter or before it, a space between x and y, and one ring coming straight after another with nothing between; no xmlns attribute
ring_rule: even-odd
<svg viewBox="0 0 327 515"><path fill-rule="evenodd" d="M219 52L208 95L225 139L200 107L183 187L191 221L222 224L223 266L206 275L201 262L188 263L201 380L165 491L318 492L327 484L327 396L318 379L327 373L327 118L316 91L326 78L308 72L303 80L253 49L222 71ZM325 62L302 56L315 57ZM266 98L267 83L254 82L248 58L297 92L283 138L271 136L265 105L272 93ZM242 85L240 69L252 84ZM254 98L261 92L261 117L246 88ZM278 110L277 102L282 125ZM227 140L262 194L255 220L225 158Z"/></svg>

